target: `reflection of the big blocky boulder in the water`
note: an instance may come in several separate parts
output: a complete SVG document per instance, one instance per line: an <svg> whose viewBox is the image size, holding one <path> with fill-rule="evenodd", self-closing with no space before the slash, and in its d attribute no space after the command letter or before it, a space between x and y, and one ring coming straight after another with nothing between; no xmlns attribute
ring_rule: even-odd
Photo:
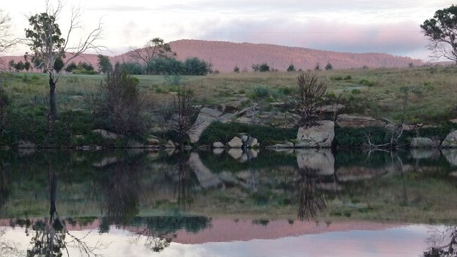
<svg viewBox="0 0 457 257"><path fill-rule="evenodd" d="M312 169L316 175L333 175L335 173L335 157L329 149L297 149L299 169Z"/></svg>

